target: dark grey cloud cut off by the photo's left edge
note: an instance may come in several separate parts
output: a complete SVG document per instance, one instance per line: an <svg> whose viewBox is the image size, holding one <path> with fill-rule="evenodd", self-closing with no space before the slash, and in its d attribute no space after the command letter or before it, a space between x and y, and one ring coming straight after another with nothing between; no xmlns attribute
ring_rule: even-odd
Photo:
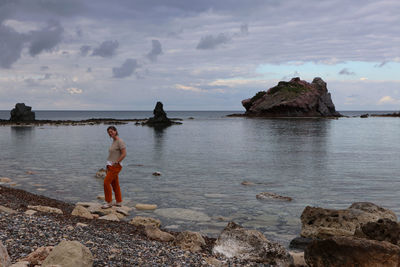
<svg viewBox="0 0 400 267"><path fill-rule="evenodd" d="M24 35L0 24L0 66L10 68L21 57Z"/></svg>

